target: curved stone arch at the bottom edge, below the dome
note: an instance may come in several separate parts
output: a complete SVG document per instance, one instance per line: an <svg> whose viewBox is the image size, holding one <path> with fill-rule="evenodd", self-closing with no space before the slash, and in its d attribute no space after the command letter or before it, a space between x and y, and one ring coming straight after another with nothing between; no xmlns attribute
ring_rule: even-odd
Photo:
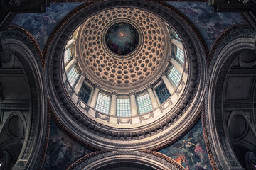
<svg viewBox="0 0 256 170"><path fill-rule="evenodd" d="M128 165L129 164L129 165ZM144 169L159 169L159 170L185 170L183 166L178 164L164 154L158 152L137 152L137 151L112 151L112 152L95 152L92 155L82 157L68 170L80 169L110 169L113 166L122 168L137 167Z"/></svg>

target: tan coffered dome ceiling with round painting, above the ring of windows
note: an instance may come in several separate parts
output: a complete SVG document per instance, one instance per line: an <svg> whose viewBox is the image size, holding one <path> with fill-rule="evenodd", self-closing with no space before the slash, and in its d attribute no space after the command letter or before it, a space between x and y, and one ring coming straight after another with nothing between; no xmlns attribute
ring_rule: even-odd
<svg viewBox="0 0 256 170"><path fill-rule="evenodd" d="M75 50L82 72L95 84L114 91L134 90L157 79L166 68L168 35L152 13L112 8L78 28Z"/></svg>

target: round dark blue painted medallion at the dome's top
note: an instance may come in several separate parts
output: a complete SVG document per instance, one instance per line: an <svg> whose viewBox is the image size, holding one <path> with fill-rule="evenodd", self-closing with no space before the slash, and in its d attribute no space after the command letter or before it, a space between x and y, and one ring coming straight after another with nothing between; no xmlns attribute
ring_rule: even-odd
<svg viewBox="0 0 256 170"><path fill-rule="evenodd" d="M118 18L102 32L102 45L108 55L117 60L127 60L142 48L142 30L133 21Z"/></svg>

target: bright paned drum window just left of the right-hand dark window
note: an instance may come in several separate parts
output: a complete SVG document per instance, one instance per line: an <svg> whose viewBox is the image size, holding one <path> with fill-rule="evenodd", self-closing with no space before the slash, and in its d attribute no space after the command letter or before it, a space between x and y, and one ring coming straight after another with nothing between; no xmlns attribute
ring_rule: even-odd
<svg viewBox="0 0 256 170"><path fill-rule="evenodd" d="M137 96L137 103L139 108L139 114L142 115L143 113L147 113L152 111L152 105L149 98L149 94L144 94L142 96Z"/></svg>

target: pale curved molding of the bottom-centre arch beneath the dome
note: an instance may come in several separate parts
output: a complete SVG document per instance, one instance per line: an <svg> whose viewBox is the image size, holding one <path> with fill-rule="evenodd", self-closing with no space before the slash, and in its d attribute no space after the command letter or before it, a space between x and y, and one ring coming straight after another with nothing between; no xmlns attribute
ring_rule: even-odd
<svg viewBox="0 0 256 170"><path fill-rule="evenodd" d="M153 166L154 169L162 169L162 167L168 167L168 169L174 170L186 170L181 164L178 164L169 157L166 157L164 154L160 154L158 152L152 151L112 151L107 152L107 150L102 150L100 152L92 152L91 154L85 155L81 159L78 159L73 165L71 165L68 170L78 170L78 169L95 169L97 166L103 166L104 164L110 164L108 162L102 162L101 159L109 160L109 162L119 161L119 162L127 162L127 158L129 162L135 161L137 164L146 164L149 166ZM145 159L146 158L146 159ZM152 161L151 161L152 160ZM90 167L87 167L90 166Z"/></svg>

